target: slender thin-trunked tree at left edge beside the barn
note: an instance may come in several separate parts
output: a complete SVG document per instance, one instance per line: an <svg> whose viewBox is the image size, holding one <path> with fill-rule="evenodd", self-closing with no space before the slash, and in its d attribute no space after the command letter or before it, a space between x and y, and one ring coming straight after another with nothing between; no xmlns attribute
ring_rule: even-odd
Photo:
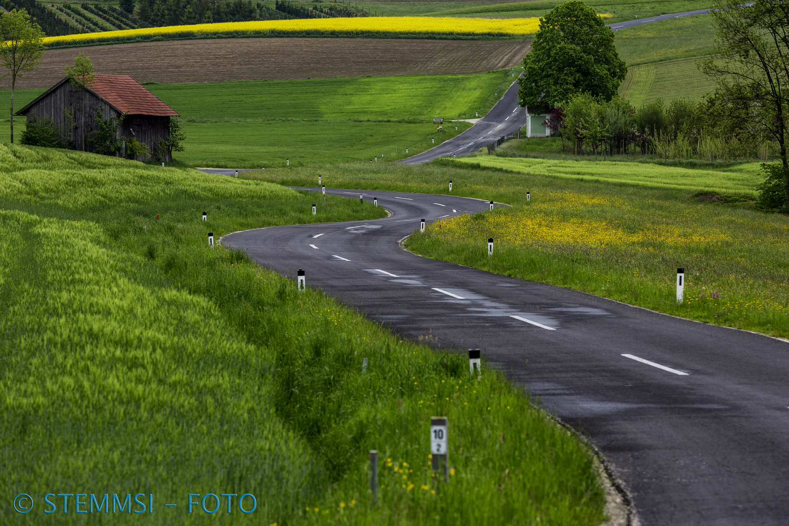
<svg viewBox="0 0 789 526"><path fill-rule="evenodd" d="M32 71L41 62L44 54L44 32L39 24L30 21L24 9L12 9L0 15L0 61L11 76L11 142L13 143L13 92L17 78L23 72Z"/></svg>

